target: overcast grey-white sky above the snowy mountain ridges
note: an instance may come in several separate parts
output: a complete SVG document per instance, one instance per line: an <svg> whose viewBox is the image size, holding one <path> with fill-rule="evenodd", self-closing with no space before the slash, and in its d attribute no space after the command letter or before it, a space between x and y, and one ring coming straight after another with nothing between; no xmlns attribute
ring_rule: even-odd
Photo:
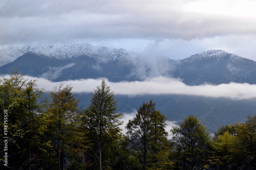
<svg viewBox="0 0 256 170"><path fill-rule="evenodd" d="M89 43L184 59L208 49L256 61L253 0L4 0L0 47ZM16 43L15 43L16 42Z"/></svg>

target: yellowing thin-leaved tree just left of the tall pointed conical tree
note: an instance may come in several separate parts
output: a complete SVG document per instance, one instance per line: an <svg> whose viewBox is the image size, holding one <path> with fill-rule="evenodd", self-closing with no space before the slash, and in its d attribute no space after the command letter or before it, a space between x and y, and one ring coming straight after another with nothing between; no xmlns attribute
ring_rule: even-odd
<svg viewBox="0 0 256 170"><path fill-rule="evenodd" d="M49 141L44 143L45 146L55 148L57 153L57 167L56 169L64 169L64 164L66 165L67 157L69 155L69 144L73 143L74 140L82 140L79 135L79 121L77 121L79 114L81 114L81 109L79 107L79 100L72 95L71 85L66 85L60 83L49 91L49 98L45 101L46 112L42 118L45 123L47 123L48 129L45 134L54 135ZM51 159L51 156L49 156ZM50 163L49 167L55 162Z"/></svg>

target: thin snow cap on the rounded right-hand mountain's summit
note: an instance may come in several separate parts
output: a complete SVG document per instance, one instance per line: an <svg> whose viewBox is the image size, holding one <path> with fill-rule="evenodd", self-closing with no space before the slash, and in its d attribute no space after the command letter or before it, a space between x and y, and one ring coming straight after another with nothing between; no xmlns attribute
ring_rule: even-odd
<svg viewBox="0 0 256 170"><path fill-rule="evenodd" d="M210 58L216 58L217 60L221 59L224 56L229 55L225 50L206 50L202 53L198 53L195 55L192 55L188 58L185 58L182 60L182 62L191 63L194 61L201 61L204 59L210 59Z"/></svg>

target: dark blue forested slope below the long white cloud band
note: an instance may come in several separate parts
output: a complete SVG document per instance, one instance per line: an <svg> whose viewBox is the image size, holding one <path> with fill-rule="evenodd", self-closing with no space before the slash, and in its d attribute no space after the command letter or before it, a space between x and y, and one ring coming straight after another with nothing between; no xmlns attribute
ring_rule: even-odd
<svg viewBox="0 0 256 170"><path fill-rule="evenodd" d="M77 94L81 105L87 107L91 94ZM185 96L178 103L177 95L116 95L118 102L117 112L136 112L143 101L153 99L156 109L160 110L169 121L180 122L184 116L197 115L197 118L207 126L210 133L226 124L243 122L247 114L255 114L256 99L232 100L228 98L212 98L202 96Z"/></svg>

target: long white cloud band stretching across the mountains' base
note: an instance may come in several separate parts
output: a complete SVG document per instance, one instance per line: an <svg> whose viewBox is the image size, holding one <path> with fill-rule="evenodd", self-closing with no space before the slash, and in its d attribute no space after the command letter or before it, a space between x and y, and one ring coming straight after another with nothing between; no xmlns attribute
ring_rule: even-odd
<svg viewBox="0 0 256 170"><path fill-rule="evenodd" d="M4 76L5 78L8 76ZM25 76L28 79L37 79L39 88L51 90L58 83L44 78ZM70 80L66 84L73 86L74 93L92 93L96 86L101 84L101 79ZM146 95L146 94L176 94L177 99L184 95L196 95L205 97L226 97L230 99L251 99L256 97L256 84L229 83L220 85L204 84L199 86L188 86L179 79L155 77L145 81L133 82L109 82L111 90L119 95Z"/></svg>

